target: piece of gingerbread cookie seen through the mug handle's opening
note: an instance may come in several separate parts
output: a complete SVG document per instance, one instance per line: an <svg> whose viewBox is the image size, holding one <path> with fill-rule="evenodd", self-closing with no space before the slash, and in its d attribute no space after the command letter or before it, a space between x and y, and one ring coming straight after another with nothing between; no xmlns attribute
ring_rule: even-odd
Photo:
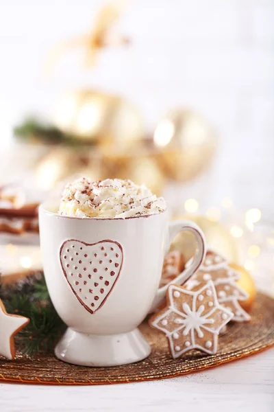
<svg viewBox="0 0 274 412"><path fill-rule="evenodd" d="M182 273L184 263L184 256L181 252L171 251L166 253L166 256L164 257L160 286L169 284L169 282Z"/></svg>

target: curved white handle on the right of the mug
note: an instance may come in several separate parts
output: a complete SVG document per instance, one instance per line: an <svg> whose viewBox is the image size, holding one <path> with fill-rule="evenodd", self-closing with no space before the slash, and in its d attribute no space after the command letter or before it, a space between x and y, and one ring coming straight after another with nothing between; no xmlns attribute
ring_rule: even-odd
<svg viewBox="0 0 274 412"><path fill-rule="evenodd" d="M182 285L184 284L194 273L198 270L203 262L203 258L206 255L206 239L199 228L194 222L190 222L190 220L175 220L173 222L169 222L169 236L168 242L166 244L165 253L169 251L169 247L171 246L171 242L173 238L179 233L180 231L190 231L195 235L197 247L195 251L194 258L188 268L186 268L182 273L180 273L175 279L171 280L168 284L162 286L162 288L158 288L155 298L152 302L150 312L153 312L164 300L166 295L166 290L169 288L170 284L177 284Z"/></svg>

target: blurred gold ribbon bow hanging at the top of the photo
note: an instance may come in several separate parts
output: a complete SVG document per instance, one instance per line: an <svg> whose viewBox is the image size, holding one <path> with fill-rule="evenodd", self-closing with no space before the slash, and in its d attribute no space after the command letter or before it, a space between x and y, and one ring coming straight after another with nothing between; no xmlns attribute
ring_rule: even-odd
<svg viewBox="0 0 274 412"><path fill-rule="evenodd" d="M75 38L62 41L50 50L45 64L45 73L52 73L57 62L71 49L83 47L85 52L85 66L90 68L95 65L97 56L101 49L113 45L125 45L129 39L125 36L110 33L111 27L119 20L126 1L115 1L103 5L95 16L90 32Z"/></svg>

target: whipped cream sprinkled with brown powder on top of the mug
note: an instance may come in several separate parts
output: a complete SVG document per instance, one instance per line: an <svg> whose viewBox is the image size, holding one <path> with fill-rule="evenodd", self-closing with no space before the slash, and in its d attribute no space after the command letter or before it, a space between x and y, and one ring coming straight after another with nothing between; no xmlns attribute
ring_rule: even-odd
<svg viewBox="0 0 274 412"><path fill-rule="evenodd" d="M80 218L130 218L165 209L164 198L152 194L145 185L122 179L92 182L82 177L66 185L58 213Z"/></svg>

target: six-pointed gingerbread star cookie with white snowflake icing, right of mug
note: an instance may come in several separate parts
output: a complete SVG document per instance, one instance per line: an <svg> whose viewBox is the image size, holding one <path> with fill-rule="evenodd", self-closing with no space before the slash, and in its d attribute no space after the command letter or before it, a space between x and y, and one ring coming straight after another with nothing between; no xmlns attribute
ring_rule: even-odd
<svg viewBox="0 0 274 412"><path fill-rule="evenodd" d="M171 285L166 302L149 323L166 334L171 356L178 358L192 349L216 354L219 332L233 314L219 304L213 282L196 291Z"/></svg>

